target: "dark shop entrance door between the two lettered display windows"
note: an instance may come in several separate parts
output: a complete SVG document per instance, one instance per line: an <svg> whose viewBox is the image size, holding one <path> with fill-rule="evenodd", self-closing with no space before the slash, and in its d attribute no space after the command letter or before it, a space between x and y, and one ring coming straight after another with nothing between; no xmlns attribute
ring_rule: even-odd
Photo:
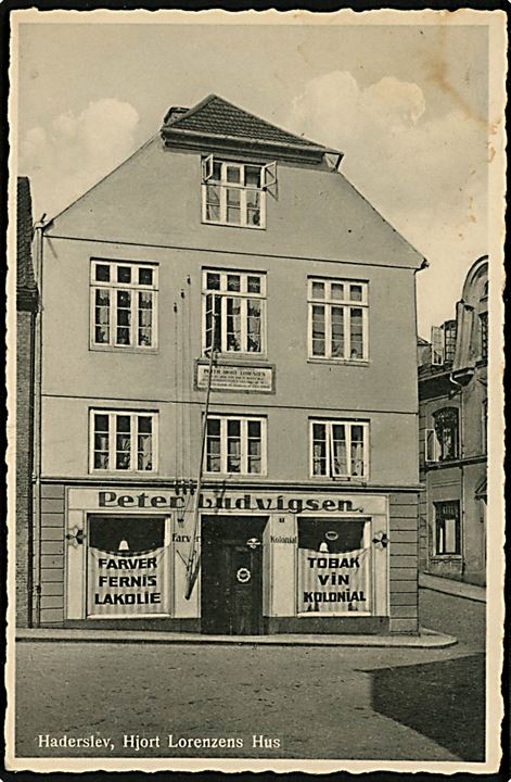
<svg viewBox="0 0 511 782"><path fill-rule="evenodd" d="M230 539L226 539L218 533L208 534L207 527L203 527L201 629L205 633L259 635L263 632L260 538L251 537L250 525L234 540L232 530L230 532Z"/></svg>

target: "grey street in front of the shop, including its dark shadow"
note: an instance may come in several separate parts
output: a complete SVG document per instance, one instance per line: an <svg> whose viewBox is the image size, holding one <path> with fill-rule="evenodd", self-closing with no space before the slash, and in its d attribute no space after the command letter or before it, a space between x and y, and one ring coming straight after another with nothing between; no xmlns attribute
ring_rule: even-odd
<svg viewBox="0 0 511 782"><path fill-rule="evenodd" d="M423 592L444 649L18 643L16 754L482 760L484 608ZM171 746L213 736L243 746Z"/></svg>

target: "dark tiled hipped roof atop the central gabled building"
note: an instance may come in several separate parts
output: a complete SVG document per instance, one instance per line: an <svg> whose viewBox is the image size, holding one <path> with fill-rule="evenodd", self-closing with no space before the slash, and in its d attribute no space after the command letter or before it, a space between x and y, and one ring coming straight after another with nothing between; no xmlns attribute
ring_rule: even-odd
<svg viewBox="0 0 511 782"><path fill-rule="evenodd" d="M164 118L162 136L165 140L170 140L175 135L225 139L248 143L251 147L274 147L295 152L321 154L336 152L283 130L216 94L204 98L192 109L182 106L169 109Z"/></svg>

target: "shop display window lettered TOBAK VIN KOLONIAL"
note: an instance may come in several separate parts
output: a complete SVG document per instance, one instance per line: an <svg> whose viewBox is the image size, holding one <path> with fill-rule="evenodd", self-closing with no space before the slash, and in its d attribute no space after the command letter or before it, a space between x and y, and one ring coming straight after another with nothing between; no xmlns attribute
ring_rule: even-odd
<svg viewBox="0 0 511 782"><path fill-rule="evenodd" d="M370 613L371 586L368 519L298 519L298 614Z"/></svg>

